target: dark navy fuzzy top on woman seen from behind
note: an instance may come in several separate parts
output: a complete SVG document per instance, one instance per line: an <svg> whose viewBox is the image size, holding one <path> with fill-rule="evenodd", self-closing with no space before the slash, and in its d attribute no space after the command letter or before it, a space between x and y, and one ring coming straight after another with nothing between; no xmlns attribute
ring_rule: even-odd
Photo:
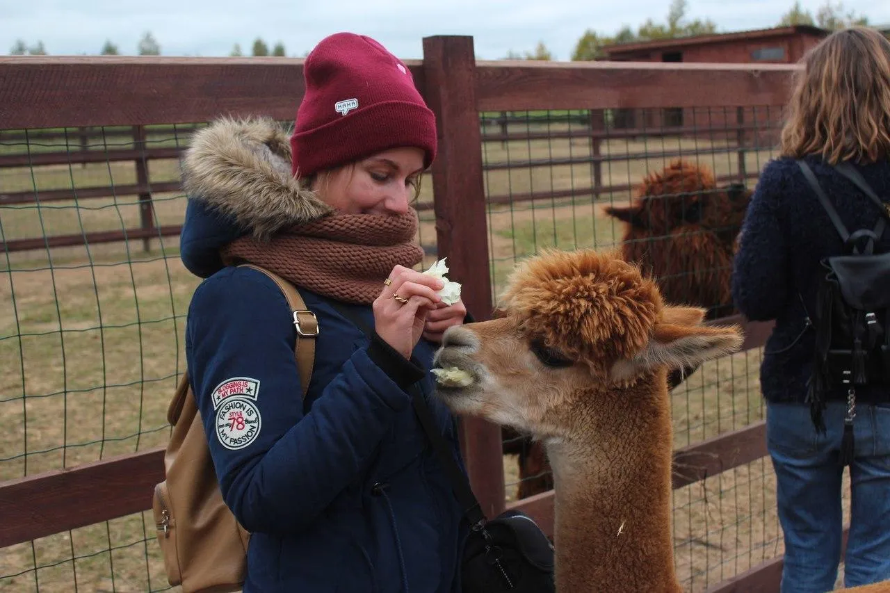
<svg viewBox="0 0 890 593"><path fill-rule="evenodd" d="M822 189L847 231L873 229L878 207L821 158L807 157ZM856 166L878 197L890 201L890 161ZM879 241L890 249L890 230ZM760 174L742 224L732 270L732 297L753 321L775 320L760 367L761 387L771 402L804 402L813 370L815 331L807 313L815 313L820 261L844 252L843 241L819 199L792 158L777 158ZM845 399L837 389L828 399ZM890 401L875 387L856 389L866 402Z"/></svg>

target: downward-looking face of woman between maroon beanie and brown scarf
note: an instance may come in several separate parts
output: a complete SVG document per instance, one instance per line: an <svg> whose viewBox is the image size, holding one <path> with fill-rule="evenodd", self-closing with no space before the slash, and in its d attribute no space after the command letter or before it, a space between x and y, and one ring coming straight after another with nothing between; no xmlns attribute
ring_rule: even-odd
<svg viewBox="0 0 890 593"><path fill-rule="evenodd" d="M312 189L344 214L401 215L408 212L423 171L423 150L384 150L319 175Z"/></svg>

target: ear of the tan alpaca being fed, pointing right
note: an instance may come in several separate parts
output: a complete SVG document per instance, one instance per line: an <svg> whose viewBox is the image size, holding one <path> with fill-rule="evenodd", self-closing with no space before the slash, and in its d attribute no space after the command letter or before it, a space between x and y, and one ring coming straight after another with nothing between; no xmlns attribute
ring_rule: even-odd
<svg viewBox="0 0 890 593"><path fill-rule="evenodd" d="M692 313L676 313L677 316L684 314ZM736 352L741 343L738 326L661 321L656 324L649 344L635 355L634 366L638 370L694 368L704 361Z"/></svg>

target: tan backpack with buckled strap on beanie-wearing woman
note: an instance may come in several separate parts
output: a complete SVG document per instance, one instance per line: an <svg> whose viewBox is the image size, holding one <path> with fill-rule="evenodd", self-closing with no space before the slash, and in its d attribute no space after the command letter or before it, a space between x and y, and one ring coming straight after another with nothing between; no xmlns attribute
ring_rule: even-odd
<svg viewBox="0 0 890 593"><path fill-rule="evenodd" d="M305 397L318 320L292 284L263 268L244 265L275 280L287 297L296 326L294 354ZM182 585L183 593L239 590L247 570L250 534L223 502L188 371L176 388L167 420L173 432L164 454L166 481L155 486L152 503L167 580Z"/></svg>

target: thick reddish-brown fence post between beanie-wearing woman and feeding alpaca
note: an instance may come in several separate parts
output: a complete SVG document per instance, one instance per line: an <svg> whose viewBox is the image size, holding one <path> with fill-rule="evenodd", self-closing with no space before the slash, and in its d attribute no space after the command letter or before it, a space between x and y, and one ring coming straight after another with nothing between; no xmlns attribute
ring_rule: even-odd
<svg viewBox="0 0 890 593"><path fill-rule="evenodd" d="M473 37L424 38L425 99L436 114L439 153L433 195L439 257L463 283L466 308L477 321L492 312L488 224ZM461 418L461 445L473 492L486 516L505 506L501 430Z"/></svg>

